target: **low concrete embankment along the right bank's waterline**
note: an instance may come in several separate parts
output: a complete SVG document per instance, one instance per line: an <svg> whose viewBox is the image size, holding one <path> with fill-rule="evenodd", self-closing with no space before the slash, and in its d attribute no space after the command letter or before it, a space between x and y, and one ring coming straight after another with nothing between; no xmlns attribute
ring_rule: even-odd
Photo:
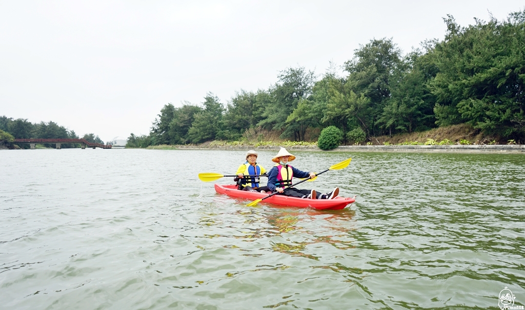
<svg viewBox="0 0 525 310"><path fill-rule="evenodd" d="M180 150L279 150L279 146L173 146ZM317 146L293 146L287 150L321 151ZM413 152L413 153L506 153L525 154L525 145L412 145L412 146L340 146L331 151L343 152Z"/></svg>

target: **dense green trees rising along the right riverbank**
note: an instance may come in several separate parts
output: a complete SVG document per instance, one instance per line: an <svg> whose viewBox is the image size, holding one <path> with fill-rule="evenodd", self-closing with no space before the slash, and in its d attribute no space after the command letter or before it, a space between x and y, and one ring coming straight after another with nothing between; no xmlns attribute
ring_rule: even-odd
<svg viewBox="0 0 525 310"><path fill-rule="evenodd" d="M406 55L392 39L360 46L344 77L288 68L267 90L240 91L226 106L211 93L201 105L167 104L150 135L132 134L128 145L232 141L254 129L300 141L329 126L341 130L343 143L363 143L461 123L525 142L525 10L468 27L452 16L444 21L443 41Z"/></svg>

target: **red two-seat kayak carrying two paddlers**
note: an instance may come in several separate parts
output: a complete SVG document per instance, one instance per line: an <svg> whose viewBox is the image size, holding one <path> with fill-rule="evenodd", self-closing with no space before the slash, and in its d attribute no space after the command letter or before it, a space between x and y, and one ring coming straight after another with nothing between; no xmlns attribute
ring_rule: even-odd
<svg viewBox="0 0 525 310"><path fill-rule="evenodd" d="M218 194L228 195L234 198L245 198L247 200L256 200L268 196L268 194L261 194L259 192L239 191L237 190L237 185L215 184L215 191ZM318 210L340 210L354 202L355 199L349 197L338 196L333 199L304 199L284 195L273 195L262 201L262 203L285 207L314 208Z"/></svg>

